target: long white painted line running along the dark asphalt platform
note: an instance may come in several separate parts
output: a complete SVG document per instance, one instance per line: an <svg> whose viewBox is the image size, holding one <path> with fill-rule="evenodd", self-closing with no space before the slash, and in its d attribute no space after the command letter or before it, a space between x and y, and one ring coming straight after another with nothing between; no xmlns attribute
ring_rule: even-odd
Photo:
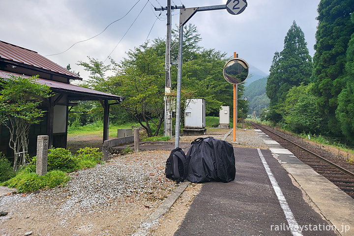
<svg viewBox="0 0 354 236"><path fill-rule="evenodd" d="M264 168L266 169L266 173L269 177L269 180L273 186L273 189L274 189L274 192L275 194L277 195L278 197L278 200L279 200L279 203L280 203L280 206L282 207L283 211L284 211L284 214L285 214L285 218L287 219L288 221L288 224L289 224L289 228L293 234L293 236L302 236L302 233L301 233L301 230L300 230L300 227L299 225L297 224L296 220L295 220L295 217L293 215L293 212L291 211L284 195L283 195L283 192L281 191L275 177L273 176L273 173L271 172L269 166L268 166L268 163L266 162L266 159L264 158L262 152L261 152L261 149L257 148L258 150L258 154L262 160L262 163L263 163L263 166Z"/></svg>

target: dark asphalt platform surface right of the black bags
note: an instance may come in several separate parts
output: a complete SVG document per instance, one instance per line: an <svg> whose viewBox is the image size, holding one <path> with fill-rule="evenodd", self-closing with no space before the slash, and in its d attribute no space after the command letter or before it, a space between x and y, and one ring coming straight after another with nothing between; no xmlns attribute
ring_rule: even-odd
<svg viewBox="0 0 354 236"><path fill-rule="evenodd" d="M290 212L283 210L258 150L234 147L234 151L235 180L204 183L175 236L336 236L303 200L301 190L270 150L261 152ZM299 227L297 232L288 229L289 214Z"/></svg>

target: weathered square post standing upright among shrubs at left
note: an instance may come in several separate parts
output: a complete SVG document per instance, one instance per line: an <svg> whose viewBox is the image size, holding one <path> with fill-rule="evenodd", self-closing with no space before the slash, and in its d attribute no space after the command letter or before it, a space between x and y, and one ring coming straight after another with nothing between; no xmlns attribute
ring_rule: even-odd
<svg viewBox="0 0 354 236"><path fill-rule="evenodd" d="M36 174L44 176L48 168L48 135L37 136Z"/></svg>

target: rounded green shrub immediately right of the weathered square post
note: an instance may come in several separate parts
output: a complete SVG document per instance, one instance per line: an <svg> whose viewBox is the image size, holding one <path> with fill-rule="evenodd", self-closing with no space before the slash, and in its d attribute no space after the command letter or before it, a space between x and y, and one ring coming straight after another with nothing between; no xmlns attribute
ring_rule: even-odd
<svg viewBox="0 0 354 236"><path fill-rule="evenodd" d="M71 172L77 166L76 159L70 150L64 148L52 148L48 153L48 171L60 170Z"/></svg>

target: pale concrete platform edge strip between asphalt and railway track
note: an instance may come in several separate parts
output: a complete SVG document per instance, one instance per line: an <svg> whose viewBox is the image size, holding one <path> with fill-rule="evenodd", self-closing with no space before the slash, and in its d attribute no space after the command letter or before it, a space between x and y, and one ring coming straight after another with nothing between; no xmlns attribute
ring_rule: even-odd
<svg viewBox="0 0 354 236"><path fill-rule="evenodd" d="M271 139L266 138L266 140ZM328 179L316 173L310 166L301 162L289 150L271 143L268 144L268 148L318 208L324 219L334 226L335 232L340 236L353 235L351 232L354 231L354 219L351 216L354 215L354 199ZM351 232L346 231L347 226Z"/></svg>

